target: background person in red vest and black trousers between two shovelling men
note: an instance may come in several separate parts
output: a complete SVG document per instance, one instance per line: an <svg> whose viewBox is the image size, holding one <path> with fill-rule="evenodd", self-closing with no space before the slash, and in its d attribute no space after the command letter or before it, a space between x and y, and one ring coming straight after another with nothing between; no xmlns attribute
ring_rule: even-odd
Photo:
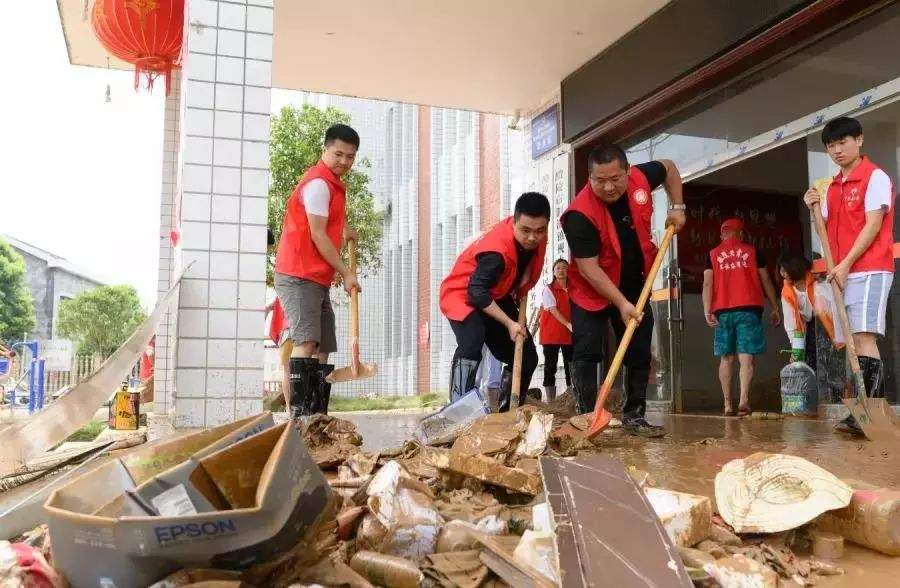
<svg viewBox="0 0 900 588"><path fill-rule="evenodd" d="M572 310L569 304L569 262L553 262L553 281L541 292L539 325L544 350L544 392L547 402L556 398L556 366L563 356L566 386L572 385Z"/></svg>

